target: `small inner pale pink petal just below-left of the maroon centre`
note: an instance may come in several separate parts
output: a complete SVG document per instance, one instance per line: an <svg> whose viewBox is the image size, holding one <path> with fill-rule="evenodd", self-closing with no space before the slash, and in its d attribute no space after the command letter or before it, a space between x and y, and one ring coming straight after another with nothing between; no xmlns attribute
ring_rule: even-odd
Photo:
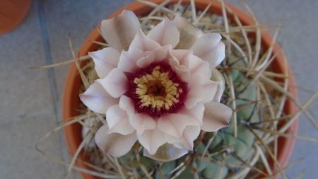
<svg viewBox="0 0 318 179"><path fill-rule="evenodd" d="M136 129L137 134L143 134L147 129L155 129L155 120L153 120L153 117L143 113L129 116L129 122Z"/></svg>

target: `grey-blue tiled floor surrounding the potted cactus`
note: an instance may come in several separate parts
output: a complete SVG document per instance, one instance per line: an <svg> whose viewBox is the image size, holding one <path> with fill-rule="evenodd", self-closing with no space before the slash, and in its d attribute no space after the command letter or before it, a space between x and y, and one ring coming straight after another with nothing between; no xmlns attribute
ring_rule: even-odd
<svg viewBox="0 0 318 179"><path fill-rule="evenodd" d="M235 4L237 1L231 0ZM60 122L60 101L67 67L28 69L71 58L68 35L74 49L93 26L129 0L34 0L25 21L0 36L0 178L64 178L66 168L35 151L34 144ZM247 1L264 24L281 23L278 41L285 49L300 88L318 89L318 1ZM300 90L300 100L309 96ZM314 116L317 105L312 106ZM318 138L310 122L300 119L300 135ZM67 158L62 134L42 148ZM317 178L318 144L298 141L292 161L302 163L288 170L290 178L305 170L303 178ZM79 178L73 175L72 178Z"/></svg>

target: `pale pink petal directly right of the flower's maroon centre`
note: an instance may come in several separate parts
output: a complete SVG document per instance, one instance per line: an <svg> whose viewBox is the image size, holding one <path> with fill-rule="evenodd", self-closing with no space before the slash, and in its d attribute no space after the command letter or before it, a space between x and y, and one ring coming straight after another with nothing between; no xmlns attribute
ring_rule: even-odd
<svg viewBox="0 0 318 179"><path fill-rule="evenodd" d="M189 91L187 93L187 98L184 101L186 108L193 108L198 103L206 103L213 100L216 95L218 82L215 81L205 81L204 83L196 83L200 79L193 79L189 83Z"/></svg>

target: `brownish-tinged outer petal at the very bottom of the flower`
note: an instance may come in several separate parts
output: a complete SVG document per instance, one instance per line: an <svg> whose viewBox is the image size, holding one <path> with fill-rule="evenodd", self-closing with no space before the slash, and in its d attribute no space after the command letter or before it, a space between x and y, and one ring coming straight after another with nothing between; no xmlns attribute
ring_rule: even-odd
<svg viewBox="0 0 318 179"><path fill-rule="evenodd" d="M149 158L153 158L156 161L163 162L174 161L187 153L187 149L179 149L173 146L172 144L163 144L153 155L149 154L149 152L146 149L143 149L143 156L147 156Z"/></svg>

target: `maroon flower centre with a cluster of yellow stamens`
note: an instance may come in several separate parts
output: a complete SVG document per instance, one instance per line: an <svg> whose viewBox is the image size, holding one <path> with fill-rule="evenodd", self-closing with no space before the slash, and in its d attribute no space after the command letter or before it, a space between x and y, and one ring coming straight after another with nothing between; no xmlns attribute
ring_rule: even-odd
<svg viewBox="0 0 318 179"><path fill-rule="evenodd" d="M138 112L160 116L183 105L186 84L166 64L151 64L131 78L131 97Z"/></svg>

